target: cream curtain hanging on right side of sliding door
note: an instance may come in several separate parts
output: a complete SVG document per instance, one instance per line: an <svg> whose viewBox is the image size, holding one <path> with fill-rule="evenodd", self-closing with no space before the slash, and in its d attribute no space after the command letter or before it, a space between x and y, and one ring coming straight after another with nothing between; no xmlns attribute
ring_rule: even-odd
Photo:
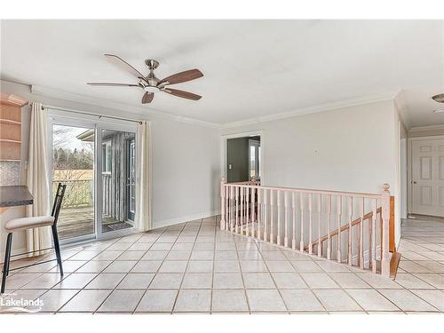
<svg viewBox="0 0 444 333"><path fill-rule="evenodd" d="M149 123L139 123L136 131L136 223L141 229L153 228L149 198Z"/></svg>

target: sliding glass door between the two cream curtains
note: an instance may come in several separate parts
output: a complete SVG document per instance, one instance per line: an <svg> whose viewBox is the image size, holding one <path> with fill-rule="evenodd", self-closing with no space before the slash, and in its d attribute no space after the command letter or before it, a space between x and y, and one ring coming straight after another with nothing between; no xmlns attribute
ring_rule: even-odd
<svg viewBox="0 0 444 333"><path fill-rule="evenodd" d="M59 215L62 242L135 229L135 130L133 124L52 116L52 188L67 184Z"/></svg>

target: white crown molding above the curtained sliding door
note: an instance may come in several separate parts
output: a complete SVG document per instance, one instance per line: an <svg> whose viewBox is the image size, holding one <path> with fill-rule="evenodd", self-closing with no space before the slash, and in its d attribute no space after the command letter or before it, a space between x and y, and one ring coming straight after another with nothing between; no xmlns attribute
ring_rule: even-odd
<svg viewBox="0 0 444 333"><path fill-rule="evenodd" d="M89 104L97 107L107 107L112 108L118 111L129 111L139 115L151 115L155 117L159 117L165 120L171 120L178 123L189 123L198 126L211 127L211 128L220 128L221 125L218 123L210 123L202 120L189 118L181 115L172 115L169 113L164 113L161 111L155 111L153 109L149 109L146 107L136 107L130 104L119 103L115 101L109 101L105 99L96 99L89 96L77 95L66 91L59 91L52 88L42 87L38 85L31 85L31 93L44 97L51 97L54 99L64 99L71 102L77 102L82 104Z"/></svg>

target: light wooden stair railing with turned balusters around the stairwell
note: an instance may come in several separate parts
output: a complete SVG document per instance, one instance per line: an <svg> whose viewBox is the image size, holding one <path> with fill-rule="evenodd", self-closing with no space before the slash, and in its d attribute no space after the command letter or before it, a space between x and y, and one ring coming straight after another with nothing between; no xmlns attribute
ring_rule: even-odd
<svg viewBox="0 0 444 333"><path fill-rule="evenodd" d="M390 251L394 254L389 187L385 184L381 194L363 194L226 183L223 178L220 228L389 276ZM366 220L369 227L364 227Z"/></svg>

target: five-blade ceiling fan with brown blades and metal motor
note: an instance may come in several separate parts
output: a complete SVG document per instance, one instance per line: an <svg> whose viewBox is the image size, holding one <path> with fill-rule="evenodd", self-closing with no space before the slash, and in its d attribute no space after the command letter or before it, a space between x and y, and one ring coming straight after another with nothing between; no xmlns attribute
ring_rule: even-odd
<svg viewBox="0 0 444 333"><path fill-rule="evenodd" d="M138 87L142 88L145 94L142 97L142 104L151 103L151 101L155 97L155 92L163 91L169 93L170 95L174 95L177 97L181 97L182 99L193 99L198 100L201 99L202 96L196 95L192 92L188 91L179 91L178 89L172 89L169 87L170 84L183 83L186 81L191 81L202 77L203 74L199 69L190 69L185 72L176 73L165 77L163 80L159 80L157 76L155 76L155 68L159 66L159 61L155 59L146 59L145 64L149 68L149 74L143 75L136 68L132 67L128 62L123 60L120 57L117 57L114 54L105 54L107 59L110 59L117 66L123 67L124 70L129 72L131 75L136 76L139 79L139 83L99 83L99 82L91 82L86 83L94 86L104 86L104 87Z"/></svg>

